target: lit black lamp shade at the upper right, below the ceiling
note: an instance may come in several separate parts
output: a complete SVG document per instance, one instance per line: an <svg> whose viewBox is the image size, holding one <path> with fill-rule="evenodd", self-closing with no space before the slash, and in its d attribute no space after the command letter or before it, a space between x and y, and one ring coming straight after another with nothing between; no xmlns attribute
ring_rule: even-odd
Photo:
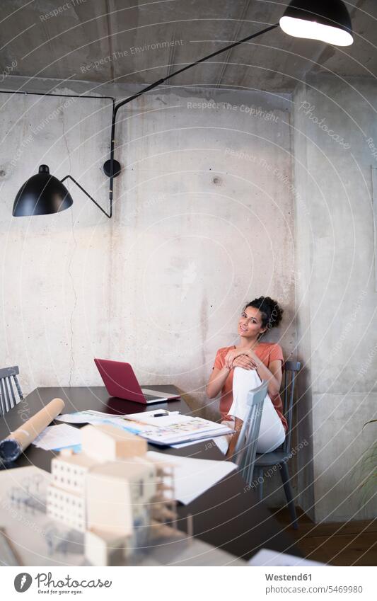
<svg viewBox="0 0 377 601"><path fill-rule="evenodd" d="M341 0L294 0L280 19L280 27L295 38L335 46L349 46L354 41L351 18Z"/></svg>

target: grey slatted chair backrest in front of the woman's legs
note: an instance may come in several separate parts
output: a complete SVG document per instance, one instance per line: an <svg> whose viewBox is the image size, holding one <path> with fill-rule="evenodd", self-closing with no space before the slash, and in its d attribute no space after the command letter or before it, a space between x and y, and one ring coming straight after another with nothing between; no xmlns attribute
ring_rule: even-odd
<svg viewBox="0 0 377 601"><path fill-rule="evenodd" d="M257 454L257 442L262 418L263 402L267 395L268 382L262 382L257 388L248 392L248 415L238 436L233 461L240 469L245 482L253 481L255 456Z"/></svg>

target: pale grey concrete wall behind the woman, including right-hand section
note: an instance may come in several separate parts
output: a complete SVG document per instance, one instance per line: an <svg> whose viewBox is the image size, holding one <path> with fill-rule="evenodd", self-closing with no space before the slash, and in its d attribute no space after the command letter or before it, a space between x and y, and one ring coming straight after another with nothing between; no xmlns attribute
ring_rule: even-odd
<svg viewBox="0 0 377 601"><path fill-rule="evenodd" d="M289 98L267 93L141 98L120 113L109 221L73 185L62 214L15 219L11 208L41 163L108 207L111 103L1 94L0 365L20 365L27 393L101 384L96 355L129 360L143 383L174 382L217 417L204 394L216 349L236 340L243 302L270 294L285 309L271 337L286 356L297 307L305 365L298 503L316 521L375 515L354 493L377 393L374 98L368 81L321 76L296 91L293 121ZM278 486L274 474L269 505L283 502Z"/></svg>

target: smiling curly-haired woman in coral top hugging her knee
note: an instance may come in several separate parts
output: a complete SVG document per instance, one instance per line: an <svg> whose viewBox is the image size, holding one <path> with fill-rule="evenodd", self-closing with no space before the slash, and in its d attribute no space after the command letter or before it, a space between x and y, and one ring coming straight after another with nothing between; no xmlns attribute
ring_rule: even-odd
<svg viewBox="0 0 377 601"><path fill-rule="evenodd" d="M279 395L282 384L283 353L276 343L263 343L263 334L282 321L283 310L269 297L254 299L245 305L238 321L240 341L237 346L220 348L216 353L214 367L207 384L207 396L214 399L221 391L221 419L233 425L236 433L231 437L228 456L233 454L242 420L229 414L233 403L233 384L244 386L247 377L242 370L255 370L260 380L268 381L268 396L263 404L257 452L275 450L284 442L288 425L283 416L283 404ZM233 374L236 376L233 382ZM239 376L243 377L240 378ZM241 384L241 381L243 384ZM250 382L255 378L250 378ZM259 381L259 379L258 379ZM255 384L254 384L255 386ZM250 389L250 388L249 388ZM233 422L229 424L229 421ZM228 440L229 442L229 440Z"/></svg>

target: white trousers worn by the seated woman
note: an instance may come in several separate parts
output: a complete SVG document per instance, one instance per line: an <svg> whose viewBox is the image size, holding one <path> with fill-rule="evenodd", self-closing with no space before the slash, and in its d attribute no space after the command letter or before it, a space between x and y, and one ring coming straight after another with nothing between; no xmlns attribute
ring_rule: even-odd
<svg viewBox="0 0 377 601"><path fill-rule="evenodd" d="M242 367L236 367L233 375L233 403L228 415L232 418L245 420L248 412L248 391L257 388L262 384L262 380L256 370L243 370ZM227 425L231 426L229 421ZM224 439L224 440L223 440ZM230 437L221 436L214 439L221 451L226 453L230 442ZM282 445L285 440L285 430L282 420L277 415L272 400L267 395L263 403L262 417L260 420L260 431L257 442L258 453L269 453Z"/></svg>

